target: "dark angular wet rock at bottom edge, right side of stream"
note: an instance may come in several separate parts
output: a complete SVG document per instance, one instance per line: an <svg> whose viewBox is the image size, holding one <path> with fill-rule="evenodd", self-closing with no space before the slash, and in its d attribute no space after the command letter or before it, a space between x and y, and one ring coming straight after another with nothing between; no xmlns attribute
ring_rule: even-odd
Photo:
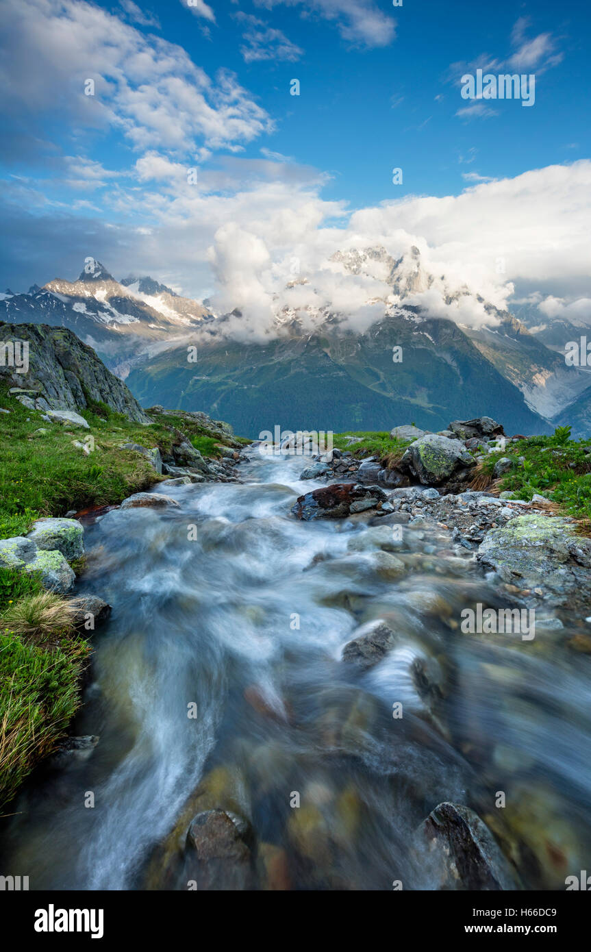
<svg viewBox="0 0 591 952"><path fill-rule="evenodd" d="M518 888L492 833L474 810L458 803L440 803L424 821L421 832L438 881L436 888Z"/></svg>

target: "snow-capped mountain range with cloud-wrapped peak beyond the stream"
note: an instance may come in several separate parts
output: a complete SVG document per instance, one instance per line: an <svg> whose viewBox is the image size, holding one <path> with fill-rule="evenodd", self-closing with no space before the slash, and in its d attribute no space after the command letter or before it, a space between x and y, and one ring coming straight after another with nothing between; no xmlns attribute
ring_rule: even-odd
<svg viewBox="0 0 591 952"><path fill-rule="evenodd" d="M509 311L429 273L419 248L398 258L382 247L349 248L325 268L332 283L324 270L275 291L263 341L237 333L247 320L239 301L217 316L208 302L149 276L117 281L90 257L75 281L0 294L0 321L69 327L146 406L203 405L244 432L261 407L275 421L286 407L297 410L318 429L350 428L351 420L381 429L386 417L406 416L437 429L466 403L516 431L542 432L573 402L588 403L588 374L566 367ZM331 300L330 288L347 307ZM198 344L197 366L187 362L188 343ZM404 348L400 365L396 346Z"/></svg>

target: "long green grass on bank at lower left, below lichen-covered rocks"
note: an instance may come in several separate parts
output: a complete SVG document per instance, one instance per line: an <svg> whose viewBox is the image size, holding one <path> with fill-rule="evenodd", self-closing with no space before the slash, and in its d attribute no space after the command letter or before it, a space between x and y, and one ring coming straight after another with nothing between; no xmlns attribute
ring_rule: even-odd
<svg viewBox="0 0 591 952"><path fill-rule="evenodd" d="M0 807L63 736L80 704L88 654L80 639L46 651L0 631Z"/></svg>

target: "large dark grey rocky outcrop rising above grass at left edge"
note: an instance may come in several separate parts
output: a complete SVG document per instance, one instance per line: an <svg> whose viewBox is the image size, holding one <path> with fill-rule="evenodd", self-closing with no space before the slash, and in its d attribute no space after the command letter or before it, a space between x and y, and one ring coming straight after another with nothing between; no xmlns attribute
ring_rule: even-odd
<svg viewBox="0 0 591 952"><path fill-rule="evenodd" d="M149 423L128 387L73 331L47 324L0 324L0 340L16 339L29 344L29 369L18 373L14 367L0 366L0 380L33 391L30 408L76 411L92 401L130 420Z"/></svg>

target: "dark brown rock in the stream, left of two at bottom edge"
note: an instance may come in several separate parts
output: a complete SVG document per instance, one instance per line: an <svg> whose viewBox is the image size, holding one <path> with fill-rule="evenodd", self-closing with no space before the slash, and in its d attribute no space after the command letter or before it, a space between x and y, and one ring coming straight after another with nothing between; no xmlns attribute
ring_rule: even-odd
<svg viewBox="0 0 591 952"><path fill-rule="evenodd" d="M228 810L205 810L188 827L187 877L199 889L247 889L251 884L251 830Z"/></svg>

